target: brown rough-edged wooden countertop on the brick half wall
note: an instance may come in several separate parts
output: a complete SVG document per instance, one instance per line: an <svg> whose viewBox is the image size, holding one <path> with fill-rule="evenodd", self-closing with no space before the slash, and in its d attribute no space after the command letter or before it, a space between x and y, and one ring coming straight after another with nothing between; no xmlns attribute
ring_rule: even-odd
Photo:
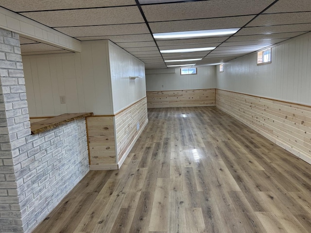
<svg viewBox="0 0 311 233"><path fill-rule="evenodd" d="M77 120L86 116L93 116L93 113L66 113L54 116L46 120L31 123L31 134L42 133L51 130L57 126L66 124L67 122Z"/></svg>

